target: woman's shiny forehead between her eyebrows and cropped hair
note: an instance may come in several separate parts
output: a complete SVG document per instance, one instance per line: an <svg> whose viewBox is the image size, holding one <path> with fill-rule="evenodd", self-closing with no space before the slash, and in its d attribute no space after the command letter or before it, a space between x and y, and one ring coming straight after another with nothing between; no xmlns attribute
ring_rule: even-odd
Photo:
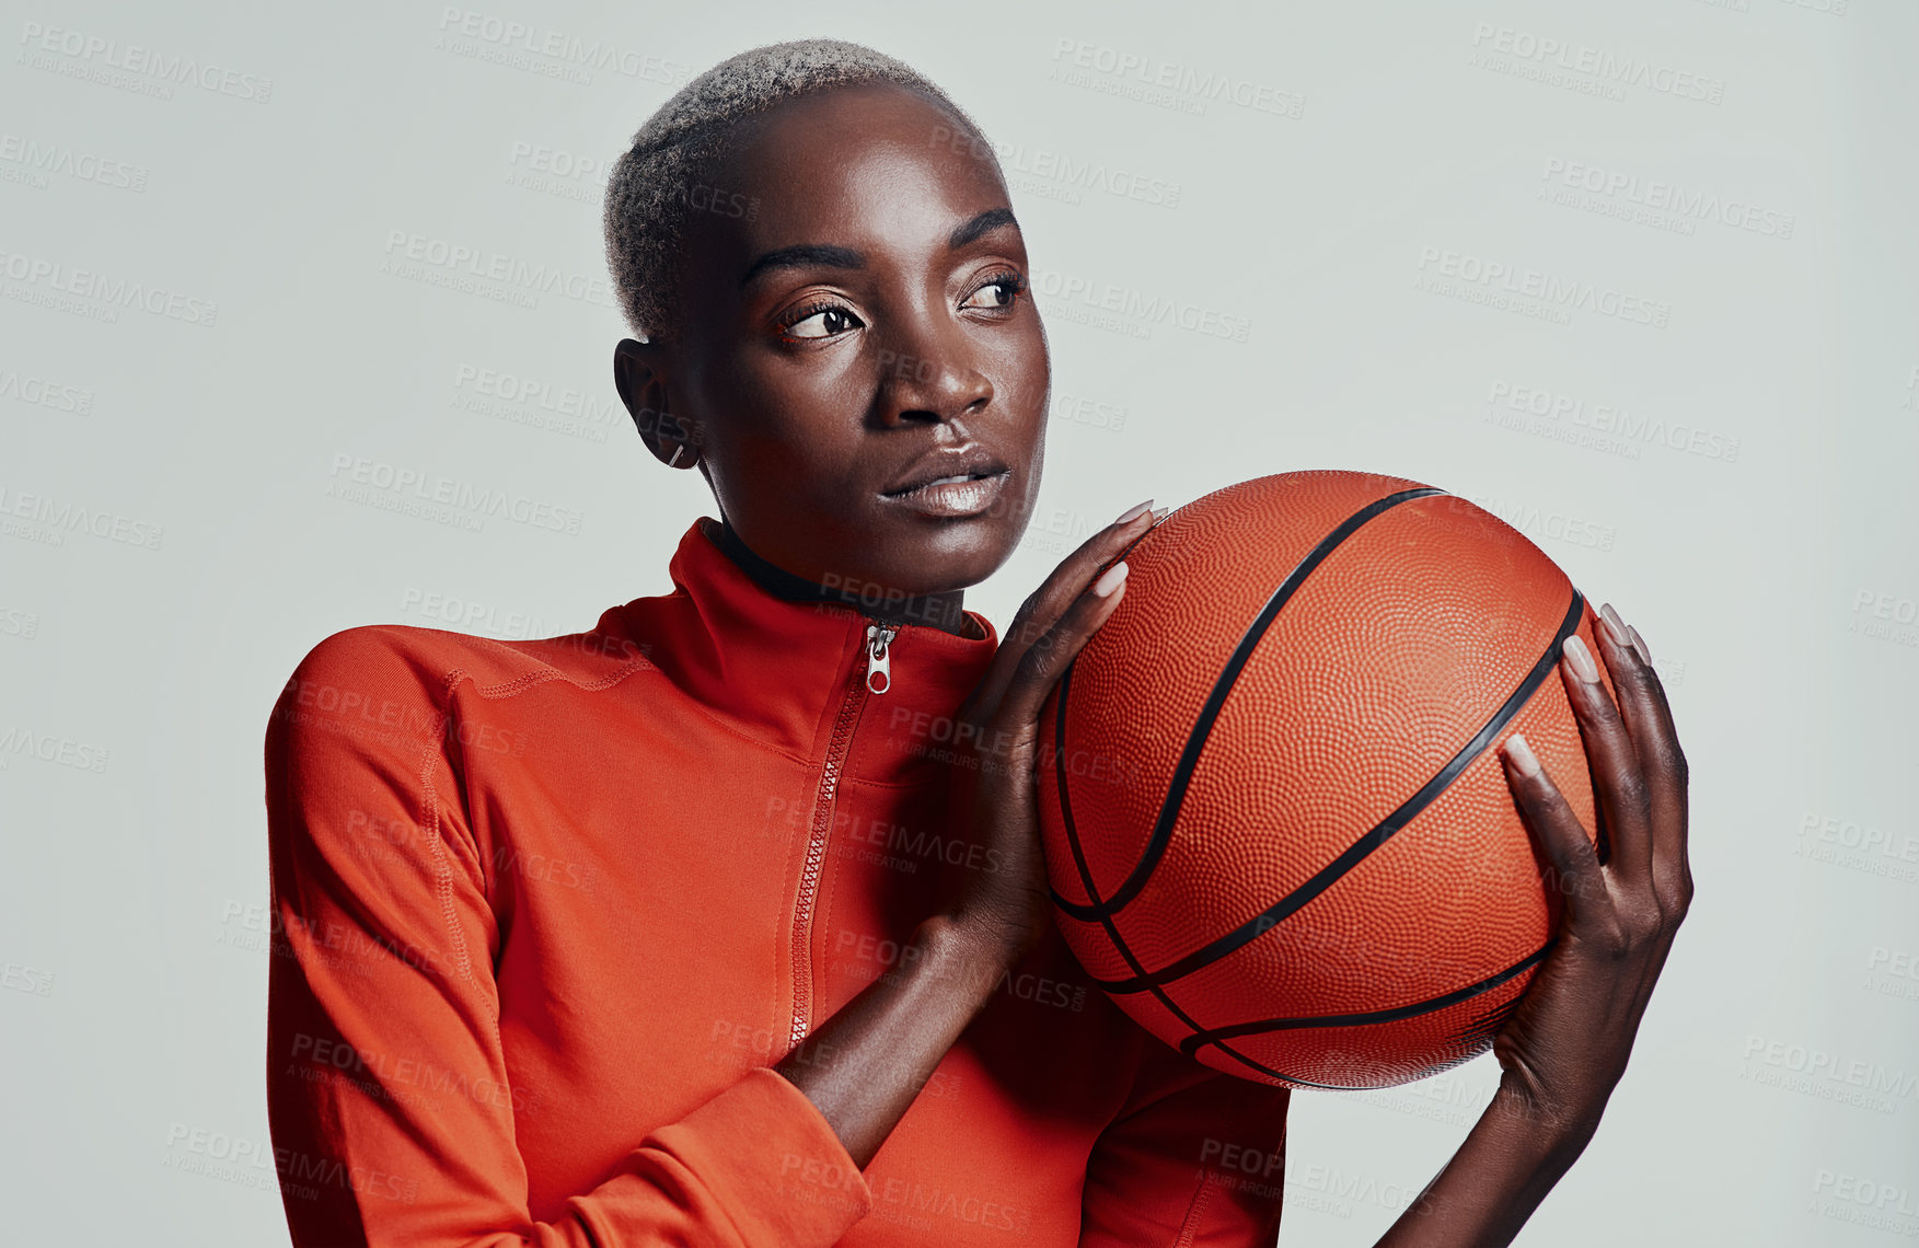
<svg viewBox="0 0 1919 1248"><path fill-rule="evenodd" d="M748 117L714 184L750 205L706 213L700 230L741 269L748 255L802 242L944 248L954 225L1007 205L992 150L933 100L890 83L814 92Z"/></svg>

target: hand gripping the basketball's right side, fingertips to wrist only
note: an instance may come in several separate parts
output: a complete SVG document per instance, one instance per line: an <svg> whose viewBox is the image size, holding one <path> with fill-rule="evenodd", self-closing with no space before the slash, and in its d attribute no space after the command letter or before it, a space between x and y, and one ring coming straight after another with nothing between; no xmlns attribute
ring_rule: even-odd
<svg viewBox="0 0 1919 1248"><path fill-rule="evenodd" d="M1620 701L1579 637L1560 676L1597 785L1608 858L1568 808L1526 739L1506 743L1506 781L1564 899L1558 943L1493 1044L1501 1092L1535 1119L1591 1135L1625 1073L1633 1035L1673 933L1693 902L1687 762L1645 641L1612 607L1595 630Z"/></svg>

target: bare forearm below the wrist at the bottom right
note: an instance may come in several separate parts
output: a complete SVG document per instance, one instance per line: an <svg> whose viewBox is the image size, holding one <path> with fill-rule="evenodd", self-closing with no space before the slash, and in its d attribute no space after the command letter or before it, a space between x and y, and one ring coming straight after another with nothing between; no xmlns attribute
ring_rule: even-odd
<svg viewBox="0 0 1919 1248"><path fill-rule="evenodd" d="M1510 1244L1597 1125L1599 1114L1545 1116L1501 1083L1466 1142L1380 1238L1380 1248Z"/></svg>

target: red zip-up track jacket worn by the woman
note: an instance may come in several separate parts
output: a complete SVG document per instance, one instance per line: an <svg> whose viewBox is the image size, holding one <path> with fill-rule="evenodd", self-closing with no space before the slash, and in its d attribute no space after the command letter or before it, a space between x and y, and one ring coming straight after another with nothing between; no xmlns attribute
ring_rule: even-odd
<svg viewBox="0 0 1919 1248"><path fill-rule="evenodd" d="M697 520L593 632L320 641L267 728L267 1089L294 1242L1270 1244L1282 1089L1057 933L864 1171L770 1068L896 973L946 872L984 637L779 597Z"/></svg>

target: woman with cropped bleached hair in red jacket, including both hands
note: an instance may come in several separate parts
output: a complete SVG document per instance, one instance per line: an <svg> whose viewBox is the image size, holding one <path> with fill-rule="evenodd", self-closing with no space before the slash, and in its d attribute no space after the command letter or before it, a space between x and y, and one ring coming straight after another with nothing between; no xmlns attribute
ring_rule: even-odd
<svg viewBox="0 0 1919 1248"><path fill-rule="evenodd" d="M977 127L867 48L758 48L647 123L606 225L645 336L620 394L722 518L679 540L672 595L587 634L353 628L288 682L269 1112L294 1240L1272 1242L1288 1092L1090 991L1038 849L1040 705L1163 513L1094 534L1004 641L961 607L1021 538L1050 380ZM1514 1235L1685 912L1685 762L1645 643L1610 609L1602 632L1618 707L1589 651L1562 666L1612 856L1512 737L1564 929L1499 1094L1384 1242Z"/></svg>

